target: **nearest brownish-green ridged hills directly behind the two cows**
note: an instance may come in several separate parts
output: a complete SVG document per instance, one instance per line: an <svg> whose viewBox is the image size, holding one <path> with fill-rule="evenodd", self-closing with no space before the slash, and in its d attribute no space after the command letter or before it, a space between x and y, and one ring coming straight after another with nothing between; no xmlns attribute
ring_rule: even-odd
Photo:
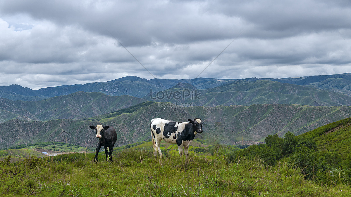
<svg viewBox="0 0 351 197"><path fill-rule="evenodd" d="M251 106L178 107L169 103L144 102L114 113L80 120L24 121L12 119L0 125L0 148L14 143L67 142L93 147L97 144L90 125L112 125L118 134L116 146L150 138L150 120L162 117L185 121L204 120L203 134L222 143L252 140L263 142L267 135L283 136L288 131L302 134L322 125L351 117L350 106L321 107L294 104L255 104ZM9 130L8 128L13 128Z"/></svg>

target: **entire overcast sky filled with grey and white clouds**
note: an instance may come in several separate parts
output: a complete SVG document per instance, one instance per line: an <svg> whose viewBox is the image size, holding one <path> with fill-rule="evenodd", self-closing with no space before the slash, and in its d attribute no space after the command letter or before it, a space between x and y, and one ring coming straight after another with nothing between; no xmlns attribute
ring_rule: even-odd
<svg viewBox="0 0 351 197"><path fill-rule="evenodd" d="M349 0L0 0L0 86L329 75L350 62Z"/></svg>

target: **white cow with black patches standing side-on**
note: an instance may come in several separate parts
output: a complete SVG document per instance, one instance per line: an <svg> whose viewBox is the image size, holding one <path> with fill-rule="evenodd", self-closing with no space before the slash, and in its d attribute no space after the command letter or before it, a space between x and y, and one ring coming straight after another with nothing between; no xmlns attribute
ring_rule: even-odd
<svg viewBox="0 0 351 197"><path fill-rule="evenodd" d="M154 155L157 151L162 155L160 143L162 140L178 145L180 155L183 155L183 146L185 155L189 154L189 144L194 140L197 133L202 133L203 121L200 118L189 119L188 122L174 122L162 118L151 120L151 138L154 147Z"/></svg>

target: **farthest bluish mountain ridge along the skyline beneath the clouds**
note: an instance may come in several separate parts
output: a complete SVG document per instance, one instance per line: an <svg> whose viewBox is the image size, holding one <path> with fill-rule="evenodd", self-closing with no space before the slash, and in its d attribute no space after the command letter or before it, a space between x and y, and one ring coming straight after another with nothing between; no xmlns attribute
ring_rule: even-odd
<svg viewBox="0 0 351 197"><path fill-rule="evenodd" d="M0 97L13 101L39 101L54 96L62 96L75 93L77 91L100 92L111 96L130 95L142 98L153 92L163 91L172 88L179 82L188 83L197 89L209 89L221 86L223 84L235 81L276 81L280 83L297 84L300 86L314 86L317 88L330 89L342 94L351 95L351 73L336 75L320 75L305 77L287 77L282 79L256 77L248 79L212 79L212 78L196 78L196 79L142 79L136 76L127 76L107 82L94 82L86 84L64 85L57 87L41 88L32 90L19 85L0 86Z"/></svg>

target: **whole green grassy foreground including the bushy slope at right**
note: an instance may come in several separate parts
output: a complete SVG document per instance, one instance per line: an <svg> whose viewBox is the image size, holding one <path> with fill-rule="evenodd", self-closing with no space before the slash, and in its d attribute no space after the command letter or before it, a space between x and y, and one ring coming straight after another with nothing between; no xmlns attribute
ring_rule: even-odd
<svg viewBox="0 0 351 197"><path fill-rule="evenodd" d="M0 195L351 196L350 126L347 118L300 136L269 135L245 149L196 139L188 157L165 142L155 157L143 141L115 147L113 163L102 151L95 164L94 153L71 144L16 146L0 151Z"/></svg>

